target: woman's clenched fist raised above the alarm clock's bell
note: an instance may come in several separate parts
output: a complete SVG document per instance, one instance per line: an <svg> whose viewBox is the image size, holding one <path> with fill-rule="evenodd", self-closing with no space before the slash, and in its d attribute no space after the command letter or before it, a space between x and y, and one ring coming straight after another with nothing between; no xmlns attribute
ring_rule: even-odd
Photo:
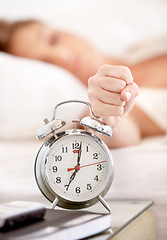
<svg viewBox="0 0 167 240"><path fill-rule="evenodd" d="M88 80L88 97L97 117L117 119L130 112L139 94L128 67L103 65ZM110 121L111 122L111 121Z"/></svg>

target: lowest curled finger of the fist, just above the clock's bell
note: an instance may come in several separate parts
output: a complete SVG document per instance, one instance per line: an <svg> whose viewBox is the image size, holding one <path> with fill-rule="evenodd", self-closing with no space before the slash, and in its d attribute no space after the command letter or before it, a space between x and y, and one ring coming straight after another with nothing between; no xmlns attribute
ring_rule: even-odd
<svg viewBox="0 0 167 240"><path fill-rule="evenodd" d="M95 116L105 118L108 116L122 116L124 107L106 104L96 99L96 101L92 101L92 110Z"/></svg>

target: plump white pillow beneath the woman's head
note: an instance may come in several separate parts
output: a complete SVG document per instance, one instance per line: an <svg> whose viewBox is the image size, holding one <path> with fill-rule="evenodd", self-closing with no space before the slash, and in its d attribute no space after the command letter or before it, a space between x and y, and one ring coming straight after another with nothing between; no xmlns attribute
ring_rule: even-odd
<svg viewBox="0 0 167 240"><path fill-rule="evenodd" d="M43 119L51 120L55 105L70 99L87 100L87 89L67 71L0 53L0 139L35 138ZM83 114L81 106L68 104L58 117L69 122Z"/></svg>

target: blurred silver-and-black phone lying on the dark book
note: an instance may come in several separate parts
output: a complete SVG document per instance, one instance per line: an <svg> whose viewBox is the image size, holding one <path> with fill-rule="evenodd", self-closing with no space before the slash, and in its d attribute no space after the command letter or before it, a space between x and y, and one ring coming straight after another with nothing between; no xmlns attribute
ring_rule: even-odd
<svg viewBox="0 0 167 240"><path fill-rule="evenodd" d="M33 223L44 215L45 206L41 203L12 201L0 204L0 231Z"/></svg>

